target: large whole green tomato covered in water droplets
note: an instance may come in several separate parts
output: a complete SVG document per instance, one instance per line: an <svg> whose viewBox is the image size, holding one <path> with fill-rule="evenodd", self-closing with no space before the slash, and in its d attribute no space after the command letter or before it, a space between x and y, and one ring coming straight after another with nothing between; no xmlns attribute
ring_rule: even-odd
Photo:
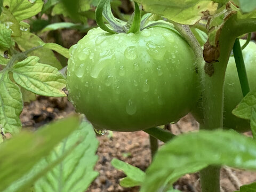
<svg viewBox="0 0 256 192"><path fill-rule="evenodd" d="M70 55L69 100L96 129L163 125L185 116L197 101L194 53L173 30L111 35L92 29Z"/></svg>

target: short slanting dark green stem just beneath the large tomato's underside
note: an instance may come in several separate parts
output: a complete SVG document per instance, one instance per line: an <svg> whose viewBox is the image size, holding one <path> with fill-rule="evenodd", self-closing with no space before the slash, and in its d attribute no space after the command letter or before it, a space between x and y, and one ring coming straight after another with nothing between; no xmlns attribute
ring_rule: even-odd
<svg viewBox="0 0 256 192"><path fill-rule="evenodd" d="M170 133L169 131L165 131L158 127L153 127L150 129L143 130L144 132L148 133L149 135L153 136L156 139L159 139L163 142L168 142L175 137L174 134Z"/></svg>

